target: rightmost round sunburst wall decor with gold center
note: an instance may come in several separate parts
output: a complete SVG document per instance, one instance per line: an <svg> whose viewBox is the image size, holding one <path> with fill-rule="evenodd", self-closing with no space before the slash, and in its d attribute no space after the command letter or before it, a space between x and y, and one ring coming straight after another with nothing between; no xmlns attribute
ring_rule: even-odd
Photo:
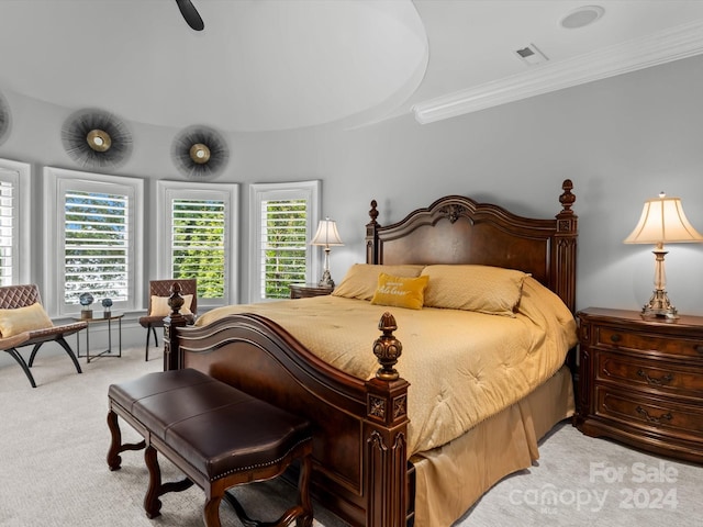
<svg viewBox="0 0 703 527"><path fill-rule="evenodd" d="M230 150L219 132L207 126L190 126L174 139L171 157L188 179L208 179L222 171Z"/></svg>

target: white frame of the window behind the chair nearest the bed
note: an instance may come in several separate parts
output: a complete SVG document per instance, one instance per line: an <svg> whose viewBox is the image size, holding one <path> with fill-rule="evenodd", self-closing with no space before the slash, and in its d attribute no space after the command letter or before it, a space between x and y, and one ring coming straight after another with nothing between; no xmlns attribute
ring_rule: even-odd
<svg viewBox="0 0 703 527"><path fill-rule="evenodd" d="M224 253L224 298L200 299L198 310L235 303L238 299L238 217L239 186L237 183L194 183L187 181L157 181L156 200L156 239L159 249L156 255L157 277L153 280L172 276L171 268L171 203L175 199L194 198L216 200L225 203L225 253Z"/></svg>

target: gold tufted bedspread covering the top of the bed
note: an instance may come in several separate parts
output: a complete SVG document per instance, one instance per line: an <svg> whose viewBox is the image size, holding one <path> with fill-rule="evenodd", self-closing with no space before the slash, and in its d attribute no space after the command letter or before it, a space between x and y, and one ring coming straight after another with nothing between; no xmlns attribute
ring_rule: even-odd
<svg viewBox="0 0 703 527"><path fill-rule="evenodd" d="M326 362L360 379L379 368L378 321L390 311L403 345L397 365L412 388L409 453L445 445L549 379L576 345L576 323L549 290L528 278L516 317L424 307L371 305L339 296L217 307L197 325L256 313L286 327Z"/></svg>

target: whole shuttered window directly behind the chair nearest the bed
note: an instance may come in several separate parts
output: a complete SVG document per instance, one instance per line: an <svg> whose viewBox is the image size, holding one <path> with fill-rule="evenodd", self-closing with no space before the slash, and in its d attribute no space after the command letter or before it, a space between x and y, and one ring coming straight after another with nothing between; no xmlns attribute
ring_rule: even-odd
<svg viewBox="0 0 703 527"><path fill-rule="evenodd" d="M159 277L198 279L199 305L237 298L238 186L158 182Z"/></svg>

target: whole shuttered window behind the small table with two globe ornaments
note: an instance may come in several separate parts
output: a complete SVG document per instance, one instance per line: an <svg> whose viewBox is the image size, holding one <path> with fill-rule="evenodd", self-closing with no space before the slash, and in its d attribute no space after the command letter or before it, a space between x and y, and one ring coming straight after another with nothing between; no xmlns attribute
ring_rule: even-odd
<svg viewBox="0 0 703 527"><path fill-rule="evenodd" d="M143 180L45 168L44 186L48 309L75 314L86 292L141 307Z"/></svg>

